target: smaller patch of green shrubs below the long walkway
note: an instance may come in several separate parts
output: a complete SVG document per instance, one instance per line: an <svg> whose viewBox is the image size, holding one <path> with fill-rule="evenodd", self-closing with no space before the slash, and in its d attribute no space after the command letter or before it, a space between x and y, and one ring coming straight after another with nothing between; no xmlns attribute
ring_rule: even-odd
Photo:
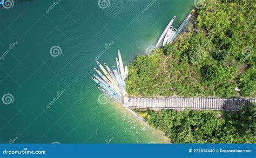
<svg viewBox="0 0 256 158"><path fill-rule="evenodd" d="M175 110L137 111L172 143L256 143L256 105L240 112Z"/></svg>

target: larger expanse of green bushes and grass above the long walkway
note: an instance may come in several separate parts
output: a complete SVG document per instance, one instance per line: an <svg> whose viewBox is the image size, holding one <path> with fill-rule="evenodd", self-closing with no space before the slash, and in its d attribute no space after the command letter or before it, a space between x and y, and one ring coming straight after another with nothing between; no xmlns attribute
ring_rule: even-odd
<svg viewBox="0 0 256 158"><path fill-rule="evenodd" d="M130 64L127 93L255 97L254 10L253 1L207 1L173 44Z"/></svg>

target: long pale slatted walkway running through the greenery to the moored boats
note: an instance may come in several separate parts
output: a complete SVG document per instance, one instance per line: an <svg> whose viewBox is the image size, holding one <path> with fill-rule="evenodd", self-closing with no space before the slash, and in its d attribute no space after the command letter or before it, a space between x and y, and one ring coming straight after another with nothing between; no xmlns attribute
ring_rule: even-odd
<svg viewBox="0 0 256 158"><path fill-rule="evenodd" d="M255 98L131 98L124 97L129 108L209 109L240 111L241 106L256 102Z"/></svg>

